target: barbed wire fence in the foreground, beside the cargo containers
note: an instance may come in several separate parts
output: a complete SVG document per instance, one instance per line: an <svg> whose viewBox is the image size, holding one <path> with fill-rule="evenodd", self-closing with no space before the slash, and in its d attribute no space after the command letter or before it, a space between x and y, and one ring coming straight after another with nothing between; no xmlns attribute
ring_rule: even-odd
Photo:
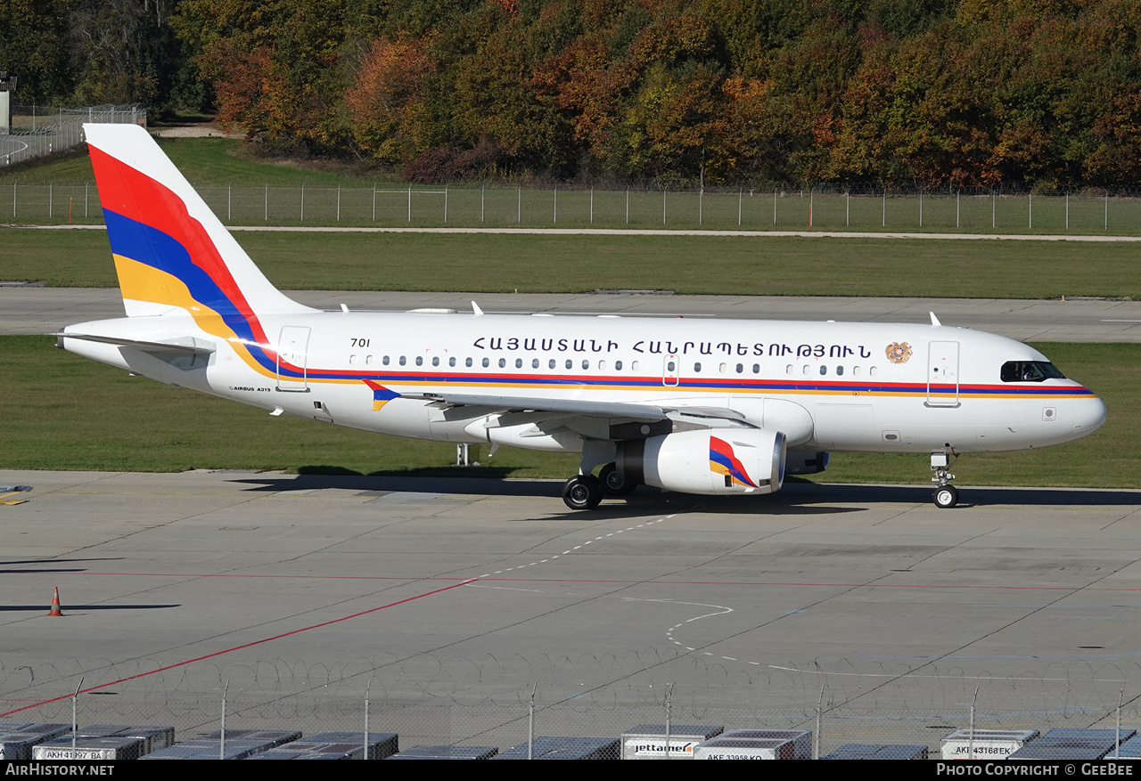
<svg viewBox="0 0 1141 781"><path fill-rule="evenodd" d="M163 668L154 659L70 659L30 668L0 662L0 721L173 726L187 740L227 729L396 732L402 747L507 749L535 735L617 738L638 724L808 730L820 756L848 743L928 746L965 729L1141 729L1141 666L1049 664L1019 675L845 660L828 668L739 669L656 650L482 659L387 653L343 662L267 659ZM675 683L680 682L680 683ZM534 689L532 710L531 694ZM978 689L976 698L974 691ZM1118 711L1118 702L1122 702ZM533 724L529 719L533 718ZM819 732L817 733L817 724Z"/></svg>

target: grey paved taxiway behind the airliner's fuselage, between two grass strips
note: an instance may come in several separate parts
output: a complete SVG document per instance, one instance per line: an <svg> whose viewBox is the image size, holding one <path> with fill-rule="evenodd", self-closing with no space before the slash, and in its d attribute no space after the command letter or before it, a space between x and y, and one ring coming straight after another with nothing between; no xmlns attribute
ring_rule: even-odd
<svg viewBox="0 0 1141 781"><path fill-rule="evenodd" d="M1003 334L1022 341L1141 341L1141 301L1008 299L792 298L662 295L646 293L383 293L288 291L321 309L403 311L423 307L470 311L476 300L487 312L552 312L738 317L755 319L919 322L934 311L944 325ZM122 317L118 290L0 287L0 334L52 333L84 320Z"/></svg>

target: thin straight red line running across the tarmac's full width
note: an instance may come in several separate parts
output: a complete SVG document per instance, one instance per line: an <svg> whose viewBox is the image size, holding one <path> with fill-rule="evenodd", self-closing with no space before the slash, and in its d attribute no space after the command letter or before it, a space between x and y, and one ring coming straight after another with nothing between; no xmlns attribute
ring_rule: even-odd
<svg viewBox="0 0 1141 781"><path fill-rule="evenodd" d="M17 572L13 572L16 575ZM40 575L40 572L18 572L18 575ZM386 575L242 575L242 573L195 573L195 572L46 572L54 578L95 576L114 577L140 577L140 578L282 578L282 579L305 579L305 580L442 580L454 581L459 578L440 577L394 577ZM901 575L901 573L900 573ZM601 583L614 585L663 585L663 586L785 586L803 588L942 588L942 589L1020 589L1020 591L1103 591L1103 592L1141 592L1141 588L1109 588L1106 586L955 586L933 584L907 584L907 583L779 583L779 581L743 581L730 583L727 580L601 580L601 579L575 579L575 578L468 578L463 583ZM435 592L434 592L435 593ZM396 603L399 604L399 603ZM386 605L387 607L387 605ZM378 608L379 610L380 608ZM3 714L0 714L2 716Z"/></svg>

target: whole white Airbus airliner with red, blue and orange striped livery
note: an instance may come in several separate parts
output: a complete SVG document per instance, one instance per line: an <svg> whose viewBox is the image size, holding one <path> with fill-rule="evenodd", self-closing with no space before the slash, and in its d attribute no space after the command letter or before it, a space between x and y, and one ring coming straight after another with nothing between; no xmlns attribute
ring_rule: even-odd
<svg viewBox="0 0 1141 781"><path fill-rule="evenodd" d="M86 124L127 317L59 347L165 383L387 434L581 454L573 510L638 486L762 495L831 453L952 459L1095 431L1037 350L930 323L321 311L276 290L139 127ZM331 269L335 259L330 258Z"/></svg>

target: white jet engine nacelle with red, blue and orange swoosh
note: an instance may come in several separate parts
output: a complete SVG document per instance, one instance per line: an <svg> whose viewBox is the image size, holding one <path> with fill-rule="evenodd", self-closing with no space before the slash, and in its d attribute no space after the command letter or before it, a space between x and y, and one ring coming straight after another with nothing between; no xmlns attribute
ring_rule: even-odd
<svg viewBox="0 0 1141 781"><path fill-rule="evenodd" d="M685 494L771 494L784 482L787 445L779 431L681 431L618 442L625 482Z"/></svg>

